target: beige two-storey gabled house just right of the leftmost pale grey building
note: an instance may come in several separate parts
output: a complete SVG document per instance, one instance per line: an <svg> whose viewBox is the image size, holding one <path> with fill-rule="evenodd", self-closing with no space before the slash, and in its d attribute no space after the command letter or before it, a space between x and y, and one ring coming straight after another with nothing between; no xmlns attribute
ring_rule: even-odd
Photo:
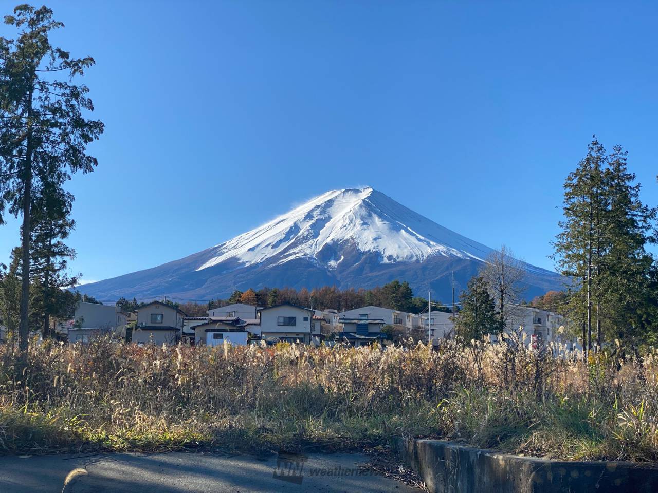
<svg viewBox="0 0 658 493"><path fill-rule="evenodd" d="M182 335L185 312L159 301L140 306L132 342L137 344L175 344Z"/></svg>

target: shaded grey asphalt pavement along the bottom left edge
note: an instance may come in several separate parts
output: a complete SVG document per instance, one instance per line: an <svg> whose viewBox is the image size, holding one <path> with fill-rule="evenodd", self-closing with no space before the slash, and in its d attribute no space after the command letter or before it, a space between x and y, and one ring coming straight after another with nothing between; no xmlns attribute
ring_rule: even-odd
<svg viewBox="0 0 658 493"><path fill-rule="evenodd" d="M0 457L0 492L33 493L412 493L402 482L364 472L361 454L218 456L103 454Z"/></svg>

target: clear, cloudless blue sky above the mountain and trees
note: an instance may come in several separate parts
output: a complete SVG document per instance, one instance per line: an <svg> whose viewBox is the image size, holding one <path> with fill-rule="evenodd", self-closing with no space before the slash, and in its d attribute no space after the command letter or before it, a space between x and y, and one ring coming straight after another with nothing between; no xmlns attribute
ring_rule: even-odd
<svg viewBox="0 0 658 493"><path fill-rule="evenodd" d="M47 5L66 24L53 41L96 60L84 83L106 125L97 170L68 185L87 281L361 185L553 268L562 185L593 133L658 204L653 1ZM0 227L0 262L17 243L17 222Z"/></svg>

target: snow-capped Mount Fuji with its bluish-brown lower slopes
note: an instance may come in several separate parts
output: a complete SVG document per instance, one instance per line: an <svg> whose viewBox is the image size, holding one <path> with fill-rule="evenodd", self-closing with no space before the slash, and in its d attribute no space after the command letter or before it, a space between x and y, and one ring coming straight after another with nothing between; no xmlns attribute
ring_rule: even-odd
<svg viewBox="0 0 658 493"><path fill-rule="evenodd" d="M201 300L249 287L358 289L399 279L447 301L452 273L459 293L491 251L370 187L332 190L215 247L78 289L101 300ZM524 266L526 297L561 287L559 274Z"/></svg>

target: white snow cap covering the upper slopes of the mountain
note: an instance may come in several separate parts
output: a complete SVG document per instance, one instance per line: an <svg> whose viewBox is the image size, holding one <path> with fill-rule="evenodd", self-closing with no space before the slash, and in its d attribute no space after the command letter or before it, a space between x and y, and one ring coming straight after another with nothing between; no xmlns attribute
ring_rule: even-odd
<svg viewBox="0 0 658 493"><path fill-rule="evenodd" d="M378 252L382 263L422 262L434 255L484 260L491 248L469 240L370 187L333 190L288 214L209 248L197 271L236 259L244 266L294 258L316 259L322 248L353 242ZM330 260L336 268L343 260Z"/></svg>

